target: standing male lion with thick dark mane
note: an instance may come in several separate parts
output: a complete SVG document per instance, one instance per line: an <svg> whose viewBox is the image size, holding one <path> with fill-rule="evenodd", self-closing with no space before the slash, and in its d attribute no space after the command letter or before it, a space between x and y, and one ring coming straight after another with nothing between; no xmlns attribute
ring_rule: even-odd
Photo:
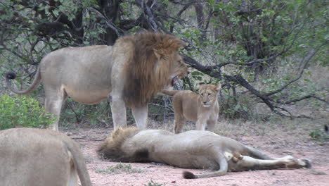
<svg viewBox="0 0 329 186"><path fill-rule="evenodd" d="M178 49L181 41L160 32L141 32L117 39L113 46L69 47L52 51L39 65L32 85L16 94L28 94L42 81L45 109L56 116L50 127L58 130L60 109L67 97L82 104L97 104L111 97L114 127L126 127L130 106L138 128L147 127L148 101L172 80L183 77L187 66Z"/></svg>

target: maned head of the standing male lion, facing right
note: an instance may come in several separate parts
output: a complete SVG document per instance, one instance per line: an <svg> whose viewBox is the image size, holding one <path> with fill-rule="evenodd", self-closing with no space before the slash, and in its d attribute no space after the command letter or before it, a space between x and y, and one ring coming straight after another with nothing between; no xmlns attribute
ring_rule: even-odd
<svg viewBox="0 0 329 186"><path fill-rule="evenodd" d="M122 38L124 39L124 37ZM187 67L179 48L181 41L160 32L141 32L134 37L134 51L125 66L124 101L129 106L146 106L175 77L183 77Z"/></svg>

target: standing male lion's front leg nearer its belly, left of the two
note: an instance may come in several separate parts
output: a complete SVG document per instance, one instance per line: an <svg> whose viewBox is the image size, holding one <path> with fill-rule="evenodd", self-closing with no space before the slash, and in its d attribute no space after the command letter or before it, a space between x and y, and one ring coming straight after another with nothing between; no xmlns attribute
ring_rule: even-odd
<svg viewBox="0 0 329 186"><path fill-rule="evenodd" d="M126 115L126 104L124 100L118 97L112 97L110 101L113 127L114 128L126 128L127 127L127 115Z"/></svg>

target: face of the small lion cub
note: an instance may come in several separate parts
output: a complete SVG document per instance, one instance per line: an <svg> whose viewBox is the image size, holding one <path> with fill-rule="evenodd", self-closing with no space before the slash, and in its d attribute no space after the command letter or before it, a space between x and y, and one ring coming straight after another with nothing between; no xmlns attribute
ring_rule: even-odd
<svg viewBox="0 0 329 186"><path fill-rule="evenodd" d="M199 95L203 107L214 105L214 103L217 101L217 95L220 88L221 85L219 83L217 85L200 85Z"/></svg>

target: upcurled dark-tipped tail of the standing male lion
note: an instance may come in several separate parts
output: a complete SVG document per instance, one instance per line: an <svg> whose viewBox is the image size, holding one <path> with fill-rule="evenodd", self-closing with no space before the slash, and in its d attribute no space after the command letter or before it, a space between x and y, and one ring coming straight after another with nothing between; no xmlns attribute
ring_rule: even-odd
<svg viewBox="0 0 329 186"><path fill-rule="evenodd" d="M34 76L34 80L33 80L32 84L26 90L17 90L17 89L13 88L13 85L11 85L11 80L15 79L15 77L16 77L16 74L13 72L9 72L6 74L7 87L16 94L29 94L30 92L32 92L32 90L34 90L37 87L37 85L39 85L39 83L41 81L40 68L38 68L37 73Z"/></svg>

